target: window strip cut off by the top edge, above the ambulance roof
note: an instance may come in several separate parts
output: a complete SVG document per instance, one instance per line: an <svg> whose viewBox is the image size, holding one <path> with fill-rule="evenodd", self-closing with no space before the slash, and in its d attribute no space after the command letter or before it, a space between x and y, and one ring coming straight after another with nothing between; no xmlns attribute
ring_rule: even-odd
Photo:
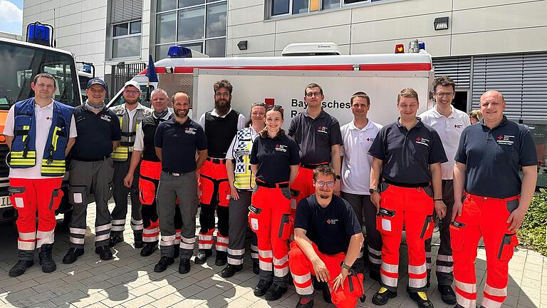
<svg viewBox="0 0 547 308"><path fill-rule="evenodd" d="M372 4L384 0L266 0L270 16L297 15L313 11L340 9L353 4Z"/></svg>

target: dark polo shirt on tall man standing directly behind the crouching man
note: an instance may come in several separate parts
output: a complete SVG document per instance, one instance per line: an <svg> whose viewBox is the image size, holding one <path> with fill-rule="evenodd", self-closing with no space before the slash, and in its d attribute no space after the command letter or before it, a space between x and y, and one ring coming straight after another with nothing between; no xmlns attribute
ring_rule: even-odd
<svg viewBox="0 0 547 308"><path fill-rule="evenodd" d="M298 143L303 165L330 163L330 147L343 144L340 123L323 110L317 118L311 118L307 110L298 113L291 120L288 135Z"/></svg>

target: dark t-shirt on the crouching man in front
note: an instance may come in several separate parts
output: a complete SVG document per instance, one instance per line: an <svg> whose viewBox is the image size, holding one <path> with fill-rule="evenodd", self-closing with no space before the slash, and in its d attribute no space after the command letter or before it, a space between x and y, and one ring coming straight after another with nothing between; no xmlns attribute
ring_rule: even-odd
<svg viewBox="0 0 547 308"><path fill-rule="evenodd" d="M325 208L315 194L302 199L296 207L294 227L306 230L306 237L327 255L348 252L350 238L363 232L351 205L337 195Z"/></svg>

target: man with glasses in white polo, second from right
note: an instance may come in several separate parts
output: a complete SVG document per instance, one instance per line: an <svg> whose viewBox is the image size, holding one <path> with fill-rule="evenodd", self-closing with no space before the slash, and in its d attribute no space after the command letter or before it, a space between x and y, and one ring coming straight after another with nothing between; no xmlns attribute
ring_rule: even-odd
<svg viewBox="0 0 547 308"><path fill-rule="evenodd" d="M454 205L454 186L452 185L454 170L454 155L458 148L459 136L464 128L469 126L467 113L459 111L452 106L456 83L448 76L438 76L433 81L435 106L420 115L422 122L437 130L441 138L444 152L448 161L441 164L442 174L442 200L447 205L447 212L444 217L452 217L452 206ZM454 260L452 260L452 247L450 247L449 221L445 220L436 211L439 218L439 234L441 245L437 255L437 283L441 299L447 304L456 304L456 294L452 289L454 280ZM427 287L431 276L431 239L425 241L425 255L427 260Z"/></svg>

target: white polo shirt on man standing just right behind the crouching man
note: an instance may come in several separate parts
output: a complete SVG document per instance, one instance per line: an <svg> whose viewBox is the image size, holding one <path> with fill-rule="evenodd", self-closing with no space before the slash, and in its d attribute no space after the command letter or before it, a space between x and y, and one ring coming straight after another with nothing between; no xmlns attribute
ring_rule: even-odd
<svg viewBox="0 0 547 308"><path fill-rule="evenodd" d="M358 129L353 120L340 128L343 146L340 147L342 160L340 190L355 195L370 195L370 166L373 157L368 155L370 145L382 128L370 119L363 129Z"/></svg>

